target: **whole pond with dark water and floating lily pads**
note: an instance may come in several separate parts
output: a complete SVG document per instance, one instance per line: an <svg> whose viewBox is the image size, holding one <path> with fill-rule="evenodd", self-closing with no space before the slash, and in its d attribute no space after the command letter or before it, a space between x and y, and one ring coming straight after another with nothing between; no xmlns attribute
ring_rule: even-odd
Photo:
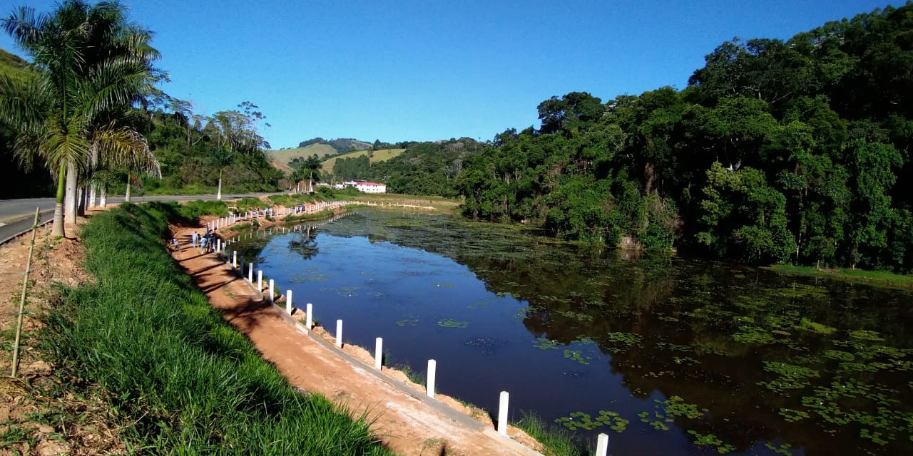
<svg viewBox="0 0 913 456"><path fill-rule="evenodd" d="M613 454L913 454L913 295L360 211L242 233L295 305L437 391Z"/></svg>

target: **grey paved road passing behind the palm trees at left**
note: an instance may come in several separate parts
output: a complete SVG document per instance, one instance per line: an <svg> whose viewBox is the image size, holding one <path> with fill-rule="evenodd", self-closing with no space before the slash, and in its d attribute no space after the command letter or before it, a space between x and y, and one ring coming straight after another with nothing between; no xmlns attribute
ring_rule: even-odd
<svg viewBox="0 0 913 456"><path fill-rule="evenodd" d="M236 198L258 198L260 196L275 195L279 193L225 193L222 195L223 200L234 200ZM215 200L214 194L206 195L155 195L155 196L133 196L131 202L153 202L153 201L195 201L195 200ZM119 204L123 202L123 197L108 198L109 204ZM16 236L32 227L32 220L35 217L35 208L39 208L40 221L50 220L54 216L54 198L26 198L22 200L0 200L0 244L4 244L11 237Z"/></svg>

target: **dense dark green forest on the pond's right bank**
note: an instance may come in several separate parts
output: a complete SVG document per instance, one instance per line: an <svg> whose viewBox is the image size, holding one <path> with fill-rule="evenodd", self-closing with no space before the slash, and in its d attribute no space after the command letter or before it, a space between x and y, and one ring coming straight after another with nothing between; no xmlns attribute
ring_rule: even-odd
<svg viewBox="0 0 913 456"><path fill-rule="evenodd" d="M456 176L471 218L752 264L913 269L913 5L733 39L686 88L544 100Z"/></svg>

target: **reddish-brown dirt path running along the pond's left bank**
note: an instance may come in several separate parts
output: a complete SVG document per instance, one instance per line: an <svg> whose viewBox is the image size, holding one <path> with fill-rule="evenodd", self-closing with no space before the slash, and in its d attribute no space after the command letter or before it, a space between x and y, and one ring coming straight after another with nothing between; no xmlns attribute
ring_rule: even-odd
<svg viewBox="0 0 913 456"><path fill-rule="evenodd" d="M292 385L346 406L353 416L366 414L373 420L373 431L391 450L405 456L538 454L496 434L484 413L473 413L440 395L436 396L440 400L428 399L415 384L406 383L400 372L384 370L378 374L362 348L346 347L341 352L320 337L320 328L302 334L303 326L296 326L283 310L269 305L256 285L250 285L229 264L215 254L200 254L190 247L194 231L200 230L176 231L184 247L173 255L213 306L246 334ZM510 428L509 435L535 445L519 430Z"/></svg>

